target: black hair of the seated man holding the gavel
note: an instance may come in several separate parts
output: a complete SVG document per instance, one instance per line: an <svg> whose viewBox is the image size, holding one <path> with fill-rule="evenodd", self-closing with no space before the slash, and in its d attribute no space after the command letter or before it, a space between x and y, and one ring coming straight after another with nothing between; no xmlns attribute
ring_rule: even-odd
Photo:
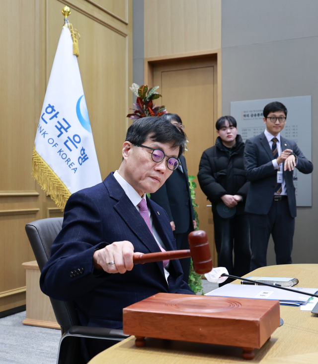
<svg viewBox="0 0 318 364"><path fill-rule="evenodd" d="M137 119L127 130L126 141L135 145L143 144L148 137L159 143L171 143L172 148L179 147L178 157L183 153L186 135L162 116L147 116Z"/></svg>

